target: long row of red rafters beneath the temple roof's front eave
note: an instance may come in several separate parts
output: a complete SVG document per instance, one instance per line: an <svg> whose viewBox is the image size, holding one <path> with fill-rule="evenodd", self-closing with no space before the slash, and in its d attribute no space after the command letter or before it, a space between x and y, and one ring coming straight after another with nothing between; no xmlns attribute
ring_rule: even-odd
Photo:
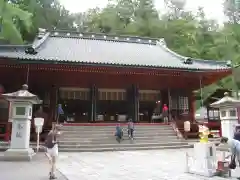
<svg viewBox="0 0 240 180"><path fill-rule="evenodd" d="M31 71L52 72L82 72L82 73L108 73L119 75L150 75L150 76L175 76L198 78L199 76L226 76L229 70L219 71L190 71L168 68L135 68L114 66L90 66L90 65L60 65L60 64L0 64L0 68L30 69Z"/></svg>

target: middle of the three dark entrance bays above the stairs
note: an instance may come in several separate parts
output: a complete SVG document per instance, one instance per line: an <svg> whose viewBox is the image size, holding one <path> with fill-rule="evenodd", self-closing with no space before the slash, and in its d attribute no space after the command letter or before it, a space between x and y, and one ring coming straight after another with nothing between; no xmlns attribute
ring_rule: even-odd
<svg viewBox="0 0 240 180"><path fill-rule="evenodd" d="M97 102L98 122L126 121L128 116L128 102L124 89L99 89Z"/></svg>

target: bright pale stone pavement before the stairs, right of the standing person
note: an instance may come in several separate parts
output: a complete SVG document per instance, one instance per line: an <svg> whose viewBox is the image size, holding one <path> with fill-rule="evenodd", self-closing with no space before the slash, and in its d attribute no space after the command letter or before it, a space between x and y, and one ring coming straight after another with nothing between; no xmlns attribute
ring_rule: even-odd
<svg viewBox="0 0 240 180"><path fill-rule="evenodd" d="M191 149L61 153L59 171L68 180L224 180L184 173ZM240 169L231 179L240 176Z"/></svg>

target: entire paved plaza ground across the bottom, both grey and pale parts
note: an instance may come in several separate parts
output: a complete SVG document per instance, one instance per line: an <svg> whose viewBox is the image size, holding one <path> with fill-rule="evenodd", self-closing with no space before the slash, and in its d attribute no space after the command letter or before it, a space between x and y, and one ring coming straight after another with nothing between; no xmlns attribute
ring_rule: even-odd
<svg viewBox="0 0 240 180"><path fill-rule="evenodd" d="M184 154L191 149L60 153L58 180L224 180L184 173ZM0 161L2 180L48 179L49 164L43 153L32 162ZM240 176L240 169L233 177Z"/></svg>

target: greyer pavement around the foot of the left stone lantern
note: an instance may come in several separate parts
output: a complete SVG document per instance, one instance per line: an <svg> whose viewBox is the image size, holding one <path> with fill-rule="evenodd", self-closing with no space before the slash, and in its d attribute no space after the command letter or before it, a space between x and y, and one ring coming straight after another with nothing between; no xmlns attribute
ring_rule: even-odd
<svg viewBox="0 0 240 180"><path fill-rule="evenodd" d="M48 178L49 163L43 153L36 155L31 162L0 161L1 180L46 180ZM67 180L61 173L57 173L58 180Z"/></svg>

